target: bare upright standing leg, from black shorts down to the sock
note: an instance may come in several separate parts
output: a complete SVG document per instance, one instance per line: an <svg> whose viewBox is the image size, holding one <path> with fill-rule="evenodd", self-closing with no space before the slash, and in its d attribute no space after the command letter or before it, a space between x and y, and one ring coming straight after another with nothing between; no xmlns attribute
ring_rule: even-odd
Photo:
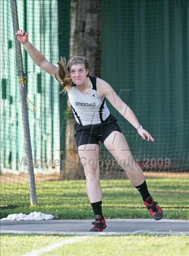
<svg viewBox="0 0 189 256"><path fill-rule="evenodd" d="M102 190L99 181L99 145L81 145L78 147L78 153L85 171L86 191L90 203L102 201Z"/></svg>

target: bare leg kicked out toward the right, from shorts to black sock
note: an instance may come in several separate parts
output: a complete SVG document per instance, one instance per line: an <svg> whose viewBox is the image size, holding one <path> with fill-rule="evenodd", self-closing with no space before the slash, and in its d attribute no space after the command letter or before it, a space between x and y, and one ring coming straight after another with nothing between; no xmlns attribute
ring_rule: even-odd
<svg viewBox="0 0 189 256"><path fill-rule="evenodd" d="M122 133L113 131L103 144L126 171L127 177L135 187L144 183L145 178L142 169L135 163L126 138Z"/></svg>

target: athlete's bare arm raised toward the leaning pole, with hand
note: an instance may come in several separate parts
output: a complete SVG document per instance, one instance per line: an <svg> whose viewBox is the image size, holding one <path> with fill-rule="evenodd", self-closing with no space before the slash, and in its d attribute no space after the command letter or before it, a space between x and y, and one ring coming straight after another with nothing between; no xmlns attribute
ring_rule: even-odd
<svg viewBox="0 0 189 256"><path fill-rule="evenodd" d="M58 74L58 68L51 64L45 56L37 50L28 39L28 32L24 30L18 30L16 32L18 41L23 44L24 48L26 49L27 53L31 57L31 59L35 62L36 65L38 65L41 69L45 70L47 73L49 73L51 76L55 77L58 80L61 80Z"/></svg>

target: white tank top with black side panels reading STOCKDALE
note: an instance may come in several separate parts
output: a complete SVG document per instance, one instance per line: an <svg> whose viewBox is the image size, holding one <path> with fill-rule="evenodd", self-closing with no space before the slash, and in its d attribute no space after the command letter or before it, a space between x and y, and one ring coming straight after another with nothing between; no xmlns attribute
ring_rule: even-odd
<svg viewBox="0 0 189 256"><path fill-rule="evenodd" d="M96 77L89 77L91 91L83 94L76 85L72 85L67 92L76 122L80 125L103 123L110 115L105 97L99 97L96 93Z"/></svg>

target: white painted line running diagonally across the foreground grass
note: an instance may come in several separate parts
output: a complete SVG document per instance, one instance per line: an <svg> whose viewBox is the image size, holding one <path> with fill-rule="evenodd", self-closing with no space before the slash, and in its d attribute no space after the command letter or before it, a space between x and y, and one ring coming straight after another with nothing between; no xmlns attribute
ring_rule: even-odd
<svg viewBox="0 0 189 256"><path fill-rule="evenodd" d="M49 251L53 251L59 247L62 247L63 245L75 243L75 242L81 242L81 241L85 240L86 238L87 237L76 237L76 238L71 238L68 240L60 241L60 242L54 242L47 247L41 248L39 250L30 251L30 252L24 254L23 256L40 256L41 254L47 253Z"/></svg>

